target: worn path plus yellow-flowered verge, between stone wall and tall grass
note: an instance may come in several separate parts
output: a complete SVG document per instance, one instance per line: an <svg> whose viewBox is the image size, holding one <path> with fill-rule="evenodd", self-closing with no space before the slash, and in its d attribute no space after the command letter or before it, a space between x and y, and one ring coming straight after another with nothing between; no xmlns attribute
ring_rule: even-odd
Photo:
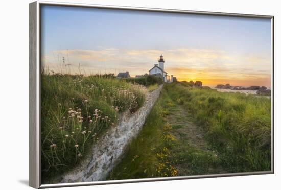
<svg viewBox="0 0 281 190"><path fill-rule="evenodd" d="M225 173L203 132L163 89L140 134L108 179Z"/></svg>

